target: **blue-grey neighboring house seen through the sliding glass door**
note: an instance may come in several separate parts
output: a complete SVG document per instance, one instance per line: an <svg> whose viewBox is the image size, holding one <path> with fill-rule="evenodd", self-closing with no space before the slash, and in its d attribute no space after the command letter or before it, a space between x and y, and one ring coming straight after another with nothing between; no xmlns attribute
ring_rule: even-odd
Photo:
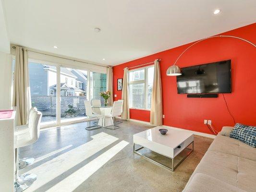
<svg viewBox="0 0 256 192"><path fill-rule="evenodd" d="M29 78L31 96L56 96L56 67L29 62ZM67 68L61 67L61 96L85 95L86 89L76 86L78 78L81 77L77 77Z"/></svg>

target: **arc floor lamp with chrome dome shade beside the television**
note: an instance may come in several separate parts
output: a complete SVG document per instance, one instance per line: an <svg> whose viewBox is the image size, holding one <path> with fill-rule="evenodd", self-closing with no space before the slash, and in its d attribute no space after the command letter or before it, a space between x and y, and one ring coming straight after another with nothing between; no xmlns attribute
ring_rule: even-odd
<svg viewBox="0 0 256 192"><path fill-rule="evenodd" d="M177 61L180 59L180 57L189 49L191 48L192 46L194 46L195 44L201 42L201 41L204 41L206 39L209 39L209 38L215 38L215 37L231 37L231 38L236 38L236 39L240 39L240 40L243 40L249 44L251 44L252 46L254 46L256 48L256 45L253 44L252 42L246 40L246 39L243 39L243 38L240 38L240 37L237 37L237 36L209 36L207 38L204 38L204 39L201 39L199 41L196 41L195 43L193 43L191 46L189 46L188 48L186 48L182 54L180 54L180 56L177 58L177 60L174 62L174 64L172 66L170 66L167 71L166 71L166 75L168 76L178 76L178 75L181 75L182 74L182 71L181 71L181 68L176 65Z"/></svg>

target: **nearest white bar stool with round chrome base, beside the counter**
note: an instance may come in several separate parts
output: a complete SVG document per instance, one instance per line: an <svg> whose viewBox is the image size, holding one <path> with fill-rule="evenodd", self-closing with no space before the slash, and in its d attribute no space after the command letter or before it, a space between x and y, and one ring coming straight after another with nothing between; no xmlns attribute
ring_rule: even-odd
<svg viewBox="0 0 256 192"><path fill-rule="evenodd" d="M14 188L15 192L22 192L28 187L30 187L35 180L37 180L37 175L33 173L26 173L24 175L18 175L19 171L19 148L37 142L40 134L40 122L42 118L42 113L37 110L32 110L29 120L29 129L27 132L20 132L20 134L15 135L15 182Z"/></svg>

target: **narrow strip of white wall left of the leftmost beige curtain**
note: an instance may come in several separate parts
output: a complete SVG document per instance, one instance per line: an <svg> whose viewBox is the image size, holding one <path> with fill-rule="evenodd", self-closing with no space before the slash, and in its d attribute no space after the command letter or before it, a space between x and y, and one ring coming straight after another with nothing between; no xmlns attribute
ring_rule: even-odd
<svg viewBox="0 0 256 192"><path fill-rule="evenodd" d="M11 55L0 51L0 109L10 109L12 87Z"/></svg>

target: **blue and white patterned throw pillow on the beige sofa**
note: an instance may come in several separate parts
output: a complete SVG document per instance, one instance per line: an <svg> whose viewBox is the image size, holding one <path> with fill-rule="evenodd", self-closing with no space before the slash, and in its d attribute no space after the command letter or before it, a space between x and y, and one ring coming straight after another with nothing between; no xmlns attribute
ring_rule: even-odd
<svg viewBox="0 0 256 192"><path fill-rule="evenodd" d="M256 147L256 127L236 123L230 137Z"/></svg>

